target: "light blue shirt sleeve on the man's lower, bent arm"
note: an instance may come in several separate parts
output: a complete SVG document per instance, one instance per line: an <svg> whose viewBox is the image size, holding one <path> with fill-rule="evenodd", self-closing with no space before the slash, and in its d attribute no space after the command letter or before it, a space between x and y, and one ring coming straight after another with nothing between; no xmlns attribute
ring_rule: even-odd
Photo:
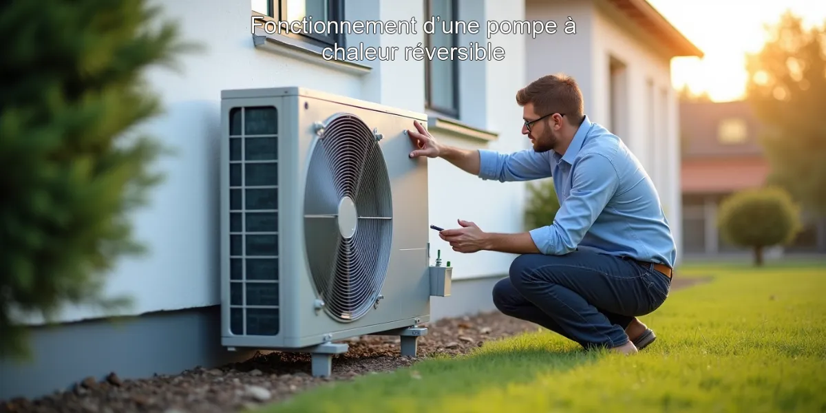
<svg viewBox="0 0 826 413"><path fill-rule="evenodd" d="M553 225L530 230L542 254L562 255L575 249L608 205L617 188L619 173L602 154L587 154L577 162L571 194L559 208Z"/></svg>

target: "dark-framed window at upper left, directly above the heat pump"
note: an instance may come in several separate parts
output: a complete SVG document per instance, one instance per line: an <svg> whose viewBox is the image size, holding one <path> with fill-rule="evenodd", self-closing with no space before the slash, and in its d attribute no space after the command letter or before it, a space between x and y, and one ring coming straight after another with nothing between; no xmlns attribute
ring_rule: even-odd
<svg viewBox="0 0 826 413"><path fill-rule="evenodd" d="M317 26L318 31L316 31L316 26L311 26L316 21L344 21L344 0L251 0L251 2L254 14L261 14L270 17L268 20L282 22L278 27L268 26L269 32L274 31L283 36L306 40L320 47L335 43L346 47L344 34L335 31L335 24L332 25L329 33L324 31L325 27L321 25ZM304 26L299 26L299 22L305 19ZM301 29L298 30L299 28ZM297 33L298 31L301 33Z"/></svg>

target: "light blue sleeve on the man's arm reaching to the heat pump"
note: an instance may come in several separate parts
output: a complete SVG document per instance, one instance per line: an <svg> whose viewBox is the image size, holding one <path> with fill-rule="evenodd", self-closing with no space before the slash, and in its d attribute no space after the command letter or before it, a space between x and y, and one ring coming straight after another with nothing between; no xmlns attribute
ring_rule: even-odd
<svg viewBox="0 0 826 413"><path fill-rule="evenodd" d="M479 178L499 182L548 178L553 172L548 154L549 151L538 153L534 150L520 150L512 154L479 150Z"/></svg>

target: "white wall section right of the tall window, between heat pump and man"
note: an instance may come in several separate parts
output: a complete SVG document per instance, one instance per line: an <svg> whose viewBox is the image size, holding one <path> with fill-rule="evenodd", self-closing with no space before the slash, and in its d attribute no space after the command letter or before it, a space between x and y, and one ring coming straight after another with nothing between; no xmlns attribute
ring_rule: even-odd
<svg viewBox="0 0 826 413"><path fill-rule="evenodd" d="M496 34L490 40L484 36L487 19L520 21L525 19L521 2L501 0L462 0L459 18L480 22L482 33L460 40L500 46L505 59L460 64L459 121L470 126L493 131L499 139L491 143L461 139L456 135L434 132L434 136L448 145L466 149L487 148L513 152L525 147L527 139L521 135L522 109L516 104L516 91L525 86L525 43L522 36ZM481 37L481 38L480 38ZM524 230L524 183L499 183L480 178L457 169L443 159L430 159L430 221L444 228L457 227L458 219L475 222L490 232L520 232ZM453 252L450 245L434 231L430 235L431 255L442 250L442 259L449 260L453 278L474 278L506 275L514 255L489 251L475 254Z"/></svg>

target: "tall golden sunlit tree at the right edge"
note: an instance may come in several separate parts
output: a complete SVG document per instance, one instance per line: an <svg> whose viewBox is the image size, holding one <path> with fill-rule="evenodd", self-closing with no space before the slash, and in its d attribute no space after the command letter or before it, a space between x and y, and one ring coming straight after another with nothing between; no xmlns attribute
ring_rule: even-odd
<svg viewBox="0 0 826 413"><path fill-rule="evenodd" d="M772 183L826 215L826 26L805 29L786 12L748 57L747 99L766 127L761 136Z"/></svg>

